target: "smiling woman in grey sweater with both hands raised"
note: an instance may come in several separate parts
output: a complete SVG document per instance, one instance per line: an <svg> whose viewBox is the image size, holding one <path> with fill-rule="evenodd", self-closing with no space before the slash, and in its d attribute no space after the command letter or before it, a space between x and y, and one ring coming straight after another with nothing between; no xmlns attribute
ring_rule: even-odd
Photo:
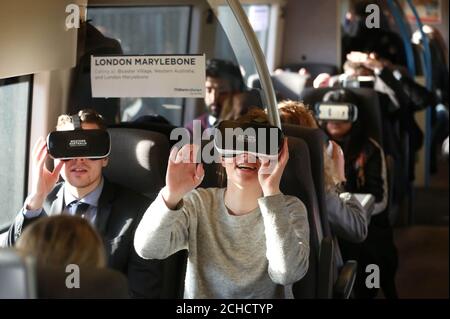
<svg viewBox="0 0 450 319"><path fill-rule="evenodd" d="M249 113L240 123L254 120ZM249 153L222 158L226 188L195 189L204 175L197 151L172 149L166 186L136 230L136 251L164 259L187 248L185 298L292 298L291 285L308 269L309 225L304 204L280 192L287 140L270 174L262 173L269 162Z"/></svg>

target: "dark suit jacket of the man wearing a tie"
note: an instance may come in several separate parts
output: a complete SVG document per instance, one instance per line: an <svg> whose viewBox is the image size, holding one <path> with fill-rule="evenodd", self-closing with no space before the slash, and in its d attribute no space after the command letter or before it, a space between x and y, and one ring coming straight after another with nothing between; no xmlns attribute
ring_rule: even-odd
<svg viewBox="0 0 450 319"><path fill-rule="evenodd" d="M8 232L7 244L15 241L33 221L61 214L64 209L64 183L59 183L44 202L43 212L25 219L20 211ZM162 289L163 263L139 257L133 245L134 232L151 199L104 180L98 202L95 228L105 244L108 266L128 277L130 295L134 298L159 298Z"/></svg>

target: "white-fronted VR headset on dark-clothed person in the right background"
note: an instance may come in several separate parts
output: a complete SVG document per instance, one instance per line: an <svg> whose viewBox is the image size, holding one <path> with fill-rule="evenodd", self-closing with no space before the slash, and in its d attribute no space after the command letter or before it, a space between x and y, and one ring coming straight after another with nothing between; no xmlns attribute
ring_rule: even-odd
<svg viewBox="0 0 450 319"><path fill-rule="evenodd" d="M314 113L319 121L355 122L358 119L358 107L351 103L319 102Z"/></svg>

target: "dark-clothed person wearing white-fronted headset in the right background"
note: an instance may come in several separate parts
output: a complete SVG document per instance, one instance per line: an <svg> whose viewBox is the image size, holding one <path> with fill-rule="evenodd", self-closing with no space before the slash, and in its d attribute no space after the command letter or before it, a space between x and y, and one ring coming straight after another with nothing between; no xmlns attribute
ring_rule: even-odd
<svg viewBox="0 0 450 319"><path fill-rule="evenodd" d="M359 104L358 98L350 91L336 90L325 94L324 102ZM380 267L380 284L386 298L397 298L395 273L397 270L397 250L394 245L392 227L387 206L387 176L384 153L376 141L369 138L364 129L367 119L360 112L355 123L328 121L321 123L331 139L344 151L344 189L350 193L366 193L375 197L375 208L369 224L367 239L362 244L340 240L340 248L345 260L358 261L358 275L355 292L358 298L374 298L377 289L366 287L365 269L369 264Z"/></svg>

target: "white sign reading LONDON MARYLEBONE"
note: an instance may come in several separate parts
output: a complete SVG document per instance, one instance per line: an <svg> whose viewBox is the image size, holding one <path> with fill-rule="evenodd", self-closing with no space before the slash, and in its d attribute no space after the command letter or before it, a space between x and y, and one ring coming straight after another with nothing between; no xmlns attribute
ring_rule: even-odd
<svg viewBox="0 0 450 319"><path fill-rule="evenodd" d="M205 55L92 56L92 97L205 96Z"/></svg>

